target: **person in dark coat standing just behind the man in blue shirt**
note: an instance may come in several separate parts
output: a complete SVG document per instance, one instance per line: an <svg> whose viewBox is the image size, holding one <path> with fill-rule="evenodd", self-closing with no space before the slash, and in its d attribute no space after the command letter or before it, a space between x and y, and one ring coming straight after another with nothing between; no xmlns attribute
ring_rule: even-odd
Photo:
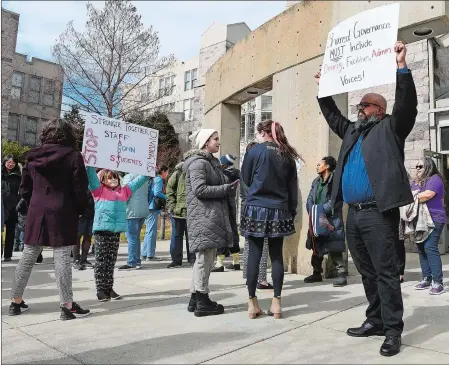
<svg viewBox="0 0 449 365"><path fill-rule="evenodd" d="M307 244L306 247L309 250L313 250L312 254L312 267L313 274L304 279L305 283L316 283L323 281L321 276L322 264L325 254L329 255L334 266L338 270L338 276L334 281L335 287L345 286L346 281L346 265L343 259L343 252L345 251L345 232L343 226L343 204L338 204L336 208L332 209L331 203L331 191L333 182L333 173L337 161L333 156L323 157L317 165L318 177L313 180L312 189L310 190L307 198L307 213L309 216L312 214L314 205L321 204L326 218L333 226L329 236L315 237L311 228L307 232ZM312 222L311 222L312 223Z"/></svg>

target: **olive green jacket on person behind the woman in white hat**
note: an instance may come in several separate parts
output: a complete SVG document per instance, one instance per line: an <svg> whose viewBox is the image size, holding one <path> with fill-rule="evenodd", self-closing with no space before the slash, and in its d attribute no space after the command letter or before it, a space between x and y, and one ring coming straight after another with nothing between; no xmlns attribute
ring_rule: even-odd
<svg viewBox="0 0 449 365"><path fill-rule="evenodd" d="M182 162L176 165L175 172L167 182L167 208L174 218L187 218L186 174L182 171Z"/></svg>

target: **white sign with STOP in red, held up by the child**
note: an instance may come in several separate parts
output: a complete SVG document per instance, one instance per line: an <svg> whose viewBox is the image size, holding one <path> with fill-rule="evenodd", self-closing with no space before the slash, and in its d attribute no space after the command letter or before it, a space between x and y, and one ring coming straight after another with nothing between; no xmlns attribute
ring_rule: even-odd
<svg viewBox="0 0 449 365"><path fill-rule="evenodd" d="M82 155L87 166L154 177L159 131L118 119L82 113Z"/></svg>

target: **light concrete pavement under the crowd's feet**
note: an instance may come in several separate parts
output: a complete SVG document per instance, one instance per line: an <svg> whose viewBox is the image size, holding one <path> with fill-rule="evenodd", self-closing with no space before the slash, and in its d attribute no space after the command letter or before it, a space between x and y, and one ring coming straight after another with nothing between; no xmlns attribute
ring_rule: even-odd
<svg viewBox="0 0 449 365"><path fill-rule="evenodd" d="M416 255L407 257L403 284L404 345L399 355L385 358L379 355L382 337L357 339L345 333L363 322L367 305L354 268L344 288L334 288L331 280L307 285L300 275L286 275L282 320L249 320L242 273L213 273L211 297L225 306L225 314L196 318L186 310L191 271L187 265L166 269L168 246L158 242L163 262L116 271L119 301L99 303L93 270L75 271L75 301L92 315L68 322L59 320L51 251L44 251L44 264L34 268L25 291L30 310L7 316L15 253L11 263L2 263L2 363L449 363L449 293L432 297L413 290L420 278ZM449 256L442 258L448 277ZM117 266L125 260L122 246ZM267 310L272 293L258 296Z"/></svg>

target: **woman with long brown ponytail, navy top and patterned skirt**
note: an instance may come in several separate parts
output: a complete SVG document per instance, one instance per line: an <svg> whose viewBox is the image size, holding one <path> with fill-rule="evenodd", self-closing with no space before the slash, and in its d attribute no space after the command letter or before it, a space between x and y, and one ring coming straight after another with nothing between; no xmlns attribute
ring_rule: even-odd
<svg viewBox="0 0 449 365"><path fill-rule="evenodd" d="M269 315L281 317L281 291L284 281L282 245L284 237L295 233L294 218L298 204L296 160L300 155L288 143L278 122L267 120L257 126L258 145L245 155L242 179L248 186L240 230L248 239L247 269L248 316L263 314L256 297L259 264L264 239L268 239L272 263L274 298Z"/></svg>

